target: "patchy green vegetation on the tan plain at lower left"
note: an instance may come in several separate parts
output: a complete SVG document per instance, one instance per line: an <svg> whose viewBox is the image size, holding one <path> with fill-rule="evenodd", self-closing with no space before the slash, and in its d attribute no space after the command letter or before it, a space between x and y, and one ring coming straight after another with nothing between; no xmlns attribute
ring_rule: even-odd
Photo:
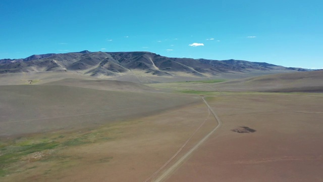
<svg viewBox="0 0 323 182"><path fill-rule="evenodd" d="M136 122L122 122L118 124L110 124L99 128L86 128L73 133L51 133L46 136L42 134L32 136L19 136L15 139L2 139L0 141L0 177L9 175L17 170L16 163L26 161L29 162L49 162L60 161L60 163L70 163L69 161L79 157L69 157L63 154L57 154L55 151L69 147L93 144L113 140L115 136L122 133L120 128L128 124ZM52 151L52 152L48 152ZM113 157L105 157L99 162L109 162ZM19 164L23 168L24 164ZM37 166L31 166L24 170L34 169ZM50 170L45 172L46 174Z"/></svg>

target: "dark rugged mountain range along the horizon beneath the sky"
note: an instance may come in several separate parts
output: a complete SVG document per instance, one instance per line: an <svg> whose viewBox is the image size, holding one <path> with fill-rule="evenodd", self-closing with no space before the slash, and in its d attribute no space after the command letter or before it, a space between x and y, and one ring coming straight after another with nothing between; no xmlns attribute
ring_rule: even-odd
<svg viewBox="0 0 323 182"><path fill-rule="evenodd" d="M32 55L0 60L0 74L76 71L93 77L115 77L132 71L148 76L217 77L220 74L308 71L269 63L242 60L168 58L150 52L89 52Z"/></svg>

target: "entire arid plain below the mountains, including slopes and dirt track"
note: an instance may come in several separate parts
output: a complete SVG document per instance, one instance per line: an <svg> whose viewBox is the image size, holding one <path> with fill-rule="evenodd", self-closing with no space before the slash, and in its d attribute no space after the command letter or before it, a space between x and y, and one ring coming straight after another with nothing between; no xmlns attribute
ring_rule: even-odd
<svg viewBox="0 0 323 182"><path fill-rule="evenodd" d="M1 181L323 180L322 71L146 85L64 74L0 79Z"/></svg>

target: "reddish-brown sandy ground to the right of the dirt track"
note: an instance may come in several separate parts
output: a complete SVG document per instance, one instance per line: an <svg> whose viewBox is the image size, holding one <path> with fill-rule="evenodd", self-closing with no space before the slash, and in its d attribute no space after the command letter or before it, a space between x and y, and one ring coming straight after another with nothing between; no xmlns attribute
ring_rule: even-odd
<svg viewBox="0 0 323 182"><path fill-rule="evenodd" d="M306 94L208 100L223 126L166 181L322 181L322 101ZM239 126L256 131L231 131Z"/></svg>

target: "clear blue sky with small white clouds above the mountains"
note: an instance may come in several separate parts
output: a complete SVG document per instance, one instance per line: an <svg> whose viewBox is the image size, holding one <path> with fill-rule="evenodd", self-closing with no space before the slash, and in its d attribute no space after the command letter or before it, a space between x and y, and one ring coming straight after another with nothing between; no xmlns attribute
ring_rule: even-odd
<svg viewBox="0 0 323 182"><path fill-rule="evenodd" d="M323 1L2 0L0 59L149 51L323 68Z"/></svg>

